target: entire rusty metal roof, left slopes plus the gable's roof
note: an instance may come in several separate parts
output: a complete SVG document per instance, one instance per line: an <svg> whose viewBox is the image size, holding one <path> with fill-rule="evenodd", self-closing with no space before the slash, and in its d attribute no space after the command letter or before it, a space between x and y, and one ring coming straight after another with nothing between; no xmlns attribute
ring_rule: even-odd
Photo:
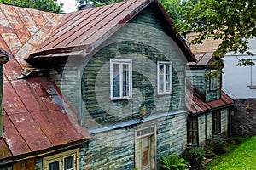
<svg viewBox="0 0 256 170"><path fill-rule="evenodd" d="M76 112L71 110L72 116L68 116L65 106L69 105L48 77L18 79L31 67L25 59L63 56L70 51L77 55L80 50L90 53L153 2L187 59L195 61L158 0L129 0L71 14L0 3L0 51L14 57L3 65L5 130L0 146L5 153L0 155L0 164L9 156L44 154L62 144L90 138L85 127L77 123Z"/></svg>

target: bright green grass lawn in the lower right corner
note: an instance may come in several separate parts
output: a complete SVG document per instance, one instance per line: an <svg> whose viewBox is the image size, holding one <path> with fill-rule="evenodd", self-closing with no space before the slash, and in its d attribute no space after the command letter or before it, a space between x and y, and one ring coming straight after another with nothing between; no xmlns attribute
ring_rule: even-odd
<svg viewBox="0 0 256 170"><path fill-rule="evenodd" d="M241 144L237 144L237 141ZM215 156L206 169L256 170L256 136L234 138L227 144L227 150L227 154Z"/></svg>

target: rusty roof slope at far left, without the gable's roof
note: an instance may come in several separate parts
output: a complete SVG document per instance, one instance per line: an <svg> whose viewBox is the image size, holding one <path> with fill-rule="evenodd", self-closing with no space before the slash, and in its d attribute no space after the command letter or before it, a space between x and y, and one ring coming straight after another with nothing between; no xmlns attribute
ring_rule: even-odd
<svg viewBox="0 0 256 170"><path fill-rule="evenodd" d="M10 156L44 154L45 150L90 138L54 82L47 77L18 79L23 69L29 67L24 59L63 19L63 14L0 3L0 55L14 57L3 65L0 164Z"/></svg>

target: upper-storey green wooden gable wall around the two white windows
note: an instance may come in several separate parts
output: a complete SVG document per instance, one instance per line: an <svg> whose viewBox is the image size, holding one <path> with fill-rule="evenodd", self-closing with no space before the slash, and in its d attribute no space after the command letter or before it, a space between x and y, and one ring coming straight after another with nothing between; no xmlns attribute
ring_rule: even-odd
<svg viewBox="0 0 256 170"><path fill-rule="evenodd" d="M79 120L88 128L133 119L142 116L144 111L148 117L184 110L184 56L176 43L163 32L164 27L153 11L146 8L97 48L96 54L87 56L83 61L70 57L64 72L60 73L61 68L55 69L59 72L52 71L51 77L79 110ZM132 99L110 100L109 60L113 58L132 59ZM73 60L79 60L80 65ZM158 60L172 61L171 95L157 95ZM77 73L73 65L77 65Z"/></svg>

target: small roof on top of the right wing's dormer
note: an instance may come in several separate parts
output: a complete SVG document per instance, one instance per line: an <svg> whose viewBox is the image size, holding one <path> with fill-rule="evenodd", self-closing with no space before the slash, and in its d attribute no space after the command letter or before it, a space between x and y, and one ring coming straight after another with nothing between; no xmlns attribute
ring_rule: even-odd
<svg viewBox="0 0 256 170"><path fill-rule="evenodd" d="M195 59L197 60L196 63L189 62L189 66L205 66L205 65L211 65L211 63L214 61L214 57L212 56L213 53L196 53Z"/></svg>

